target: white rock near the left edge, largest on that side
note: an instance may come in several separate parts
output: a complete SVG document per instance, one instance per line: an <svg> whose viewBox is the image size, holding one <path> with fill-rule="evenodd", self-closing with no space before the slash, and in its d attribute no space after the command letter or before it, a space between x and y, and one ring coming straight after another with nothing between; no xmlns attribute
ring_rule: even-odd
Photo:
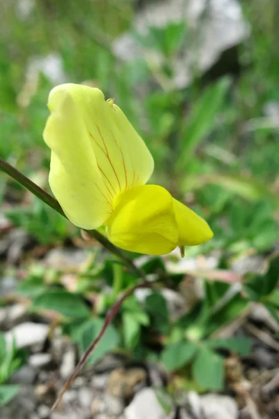
<svg viewBox="0 0 279 419"><path fill-rule="evenodd" d="M43 344L47 339L48 325L27 321L15 326L5 333L6 344L9 346L15 338L17 348L26 348L36 344Z"/></svg>

